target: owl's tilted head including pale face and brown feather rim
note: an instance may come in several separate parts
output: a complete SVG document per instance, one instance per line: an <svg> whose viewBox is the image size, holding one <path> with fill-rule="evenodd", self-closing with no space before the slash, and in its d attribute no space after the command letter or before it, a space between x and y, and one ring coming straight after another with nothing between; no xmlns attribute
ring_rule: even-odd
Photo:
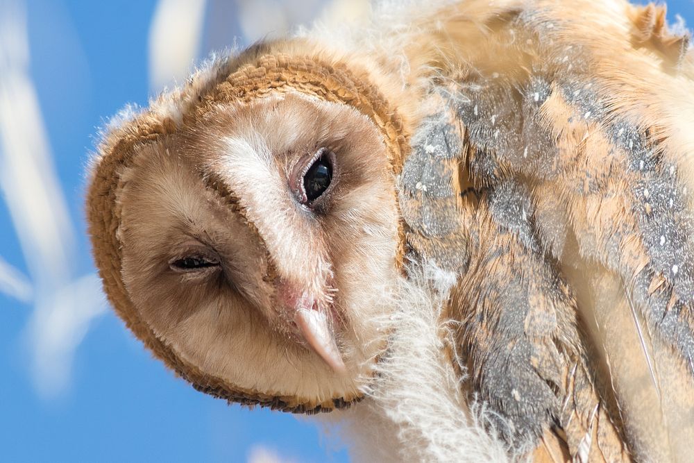
<svg viewBox="0 0 694 463"><path fill-rule="evenodd" d="M407 140L360 69L307 42L257 45L105 133L87 197L105 291L196 389L314 412L369 380Z"/></svg>

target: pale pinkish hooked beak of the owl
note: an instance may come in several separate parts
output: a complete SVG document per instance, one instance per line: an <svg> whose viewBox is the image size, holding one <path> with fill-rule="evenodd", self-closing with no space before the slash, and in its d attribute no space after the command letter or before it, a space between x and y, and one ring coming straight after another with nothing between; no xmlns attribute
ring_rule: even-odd
<svg viewBox="0 0 694 463"><path fill-rule="evenodd" d="M296 310L294 321L306 342L321 356L335 373L344 375L347 371L340 354L335 335L332 334L325 312L300 308Z"/></svg>

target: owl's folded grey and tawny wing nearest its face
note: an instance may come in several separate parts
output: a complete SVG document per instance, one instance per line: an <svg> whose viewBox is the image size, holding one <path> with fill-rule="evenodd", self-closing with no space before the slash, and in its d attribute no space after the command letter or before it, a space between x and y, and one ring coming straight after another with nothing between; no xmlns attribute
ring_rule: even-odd
<svg viewBox="0 0 694 463"><path fill-rule="evenodd" d="M466 187L462 127L446 106L424 119L400 207L410 252L462 275L452 312L471 392L499 412L491 426L517 448L537 439L544 448L559 435L563 447L550 455L618 461L625 448L589 376L575 299L532 224L530 191L512 179Z"/></svg>

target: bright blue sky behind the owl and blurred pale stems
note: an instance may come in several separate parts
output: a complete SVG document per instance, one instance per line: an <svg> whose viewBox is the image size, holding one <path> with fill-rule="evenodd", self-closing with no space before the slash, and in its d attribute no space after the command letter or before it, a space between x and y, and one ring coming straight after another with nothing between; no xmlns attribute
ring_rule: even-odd
<svg viewBox="0 0 694 463"><path fill-rule="evenodd" d="M233 37L243 44L255 38L253 34L262 35L247 26L261 10L246 10L239 16L234 6L223 3L208 5L217 10L213 15L208 9L203 22L207 33L196 47L198 56ZM299 3L295 0L285 11L291 20L310 17L321 6L320 0L303 2L301 8ZM152 87L148 41L157 2L28 0L22 4L0 0L0 15L6 15L0 16L0 29L3 20L15 22L8 12L18 11L21 19L23 8L29 53L24 74L33 83L44 127L44 133L40 127L28 131L27 138L45 140L44 151L51 158L44 163L49 167L36 174L39 185L12 196L12 182L24 177L7 174L11 150L0 144L0 273L4 268L14 281L13 289L0 285L0 460L227 462L246 461L254 448L262 447L283 460L347 461L346 451L328 448L332 444L321 440L308 421L229 406L194 391L153 360L94 289L83 216L87 152L105 118L126 102L146 105ZM669 4L670 19L679 12L694 23L693 1ZM6 59L2 52L0 44L0 83ZM24 120L22 115L8 114L5 117ZM22 128L26 130L26 125ZM40 146L34 148L41 151ZM26 172L31 174L31 166L22 167L21 161L15 159L17 169L29 169ZM56 178L51 190L51 179ZM60 236L66 239L44 243L39 252L34 245L41 247L37 244L41 230L33 241L19 239L27 234L17 230L30 223L23 207L40 207L37 190L42 185L58 217ZM7 273L8 268L14 270ZM55 330L75 301L88 306L78 314L81 323ZM62 312L53 305L62 307ZM48 336L44 342L46 333L55 332L62 337Z"/></svg>

